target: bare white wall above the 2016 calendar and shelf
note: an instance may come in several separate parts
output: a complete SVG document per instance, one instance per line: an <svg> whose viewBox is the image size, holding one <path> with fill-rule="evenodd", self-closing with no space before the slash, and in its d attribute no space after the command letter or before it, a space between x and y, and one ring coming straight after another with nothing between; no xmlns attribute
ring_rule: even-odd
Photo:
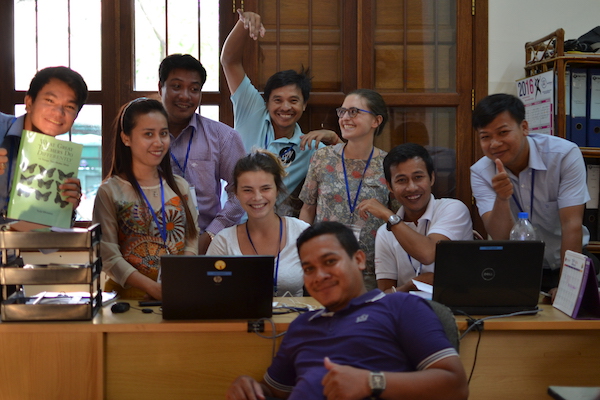
<svg viewBox="0 0 600 400"><path fill-rule="evenodd" d="M489 0L489 93L517 94L526 42L558 28L577 39L598 25L600 0Z"/></svg>

